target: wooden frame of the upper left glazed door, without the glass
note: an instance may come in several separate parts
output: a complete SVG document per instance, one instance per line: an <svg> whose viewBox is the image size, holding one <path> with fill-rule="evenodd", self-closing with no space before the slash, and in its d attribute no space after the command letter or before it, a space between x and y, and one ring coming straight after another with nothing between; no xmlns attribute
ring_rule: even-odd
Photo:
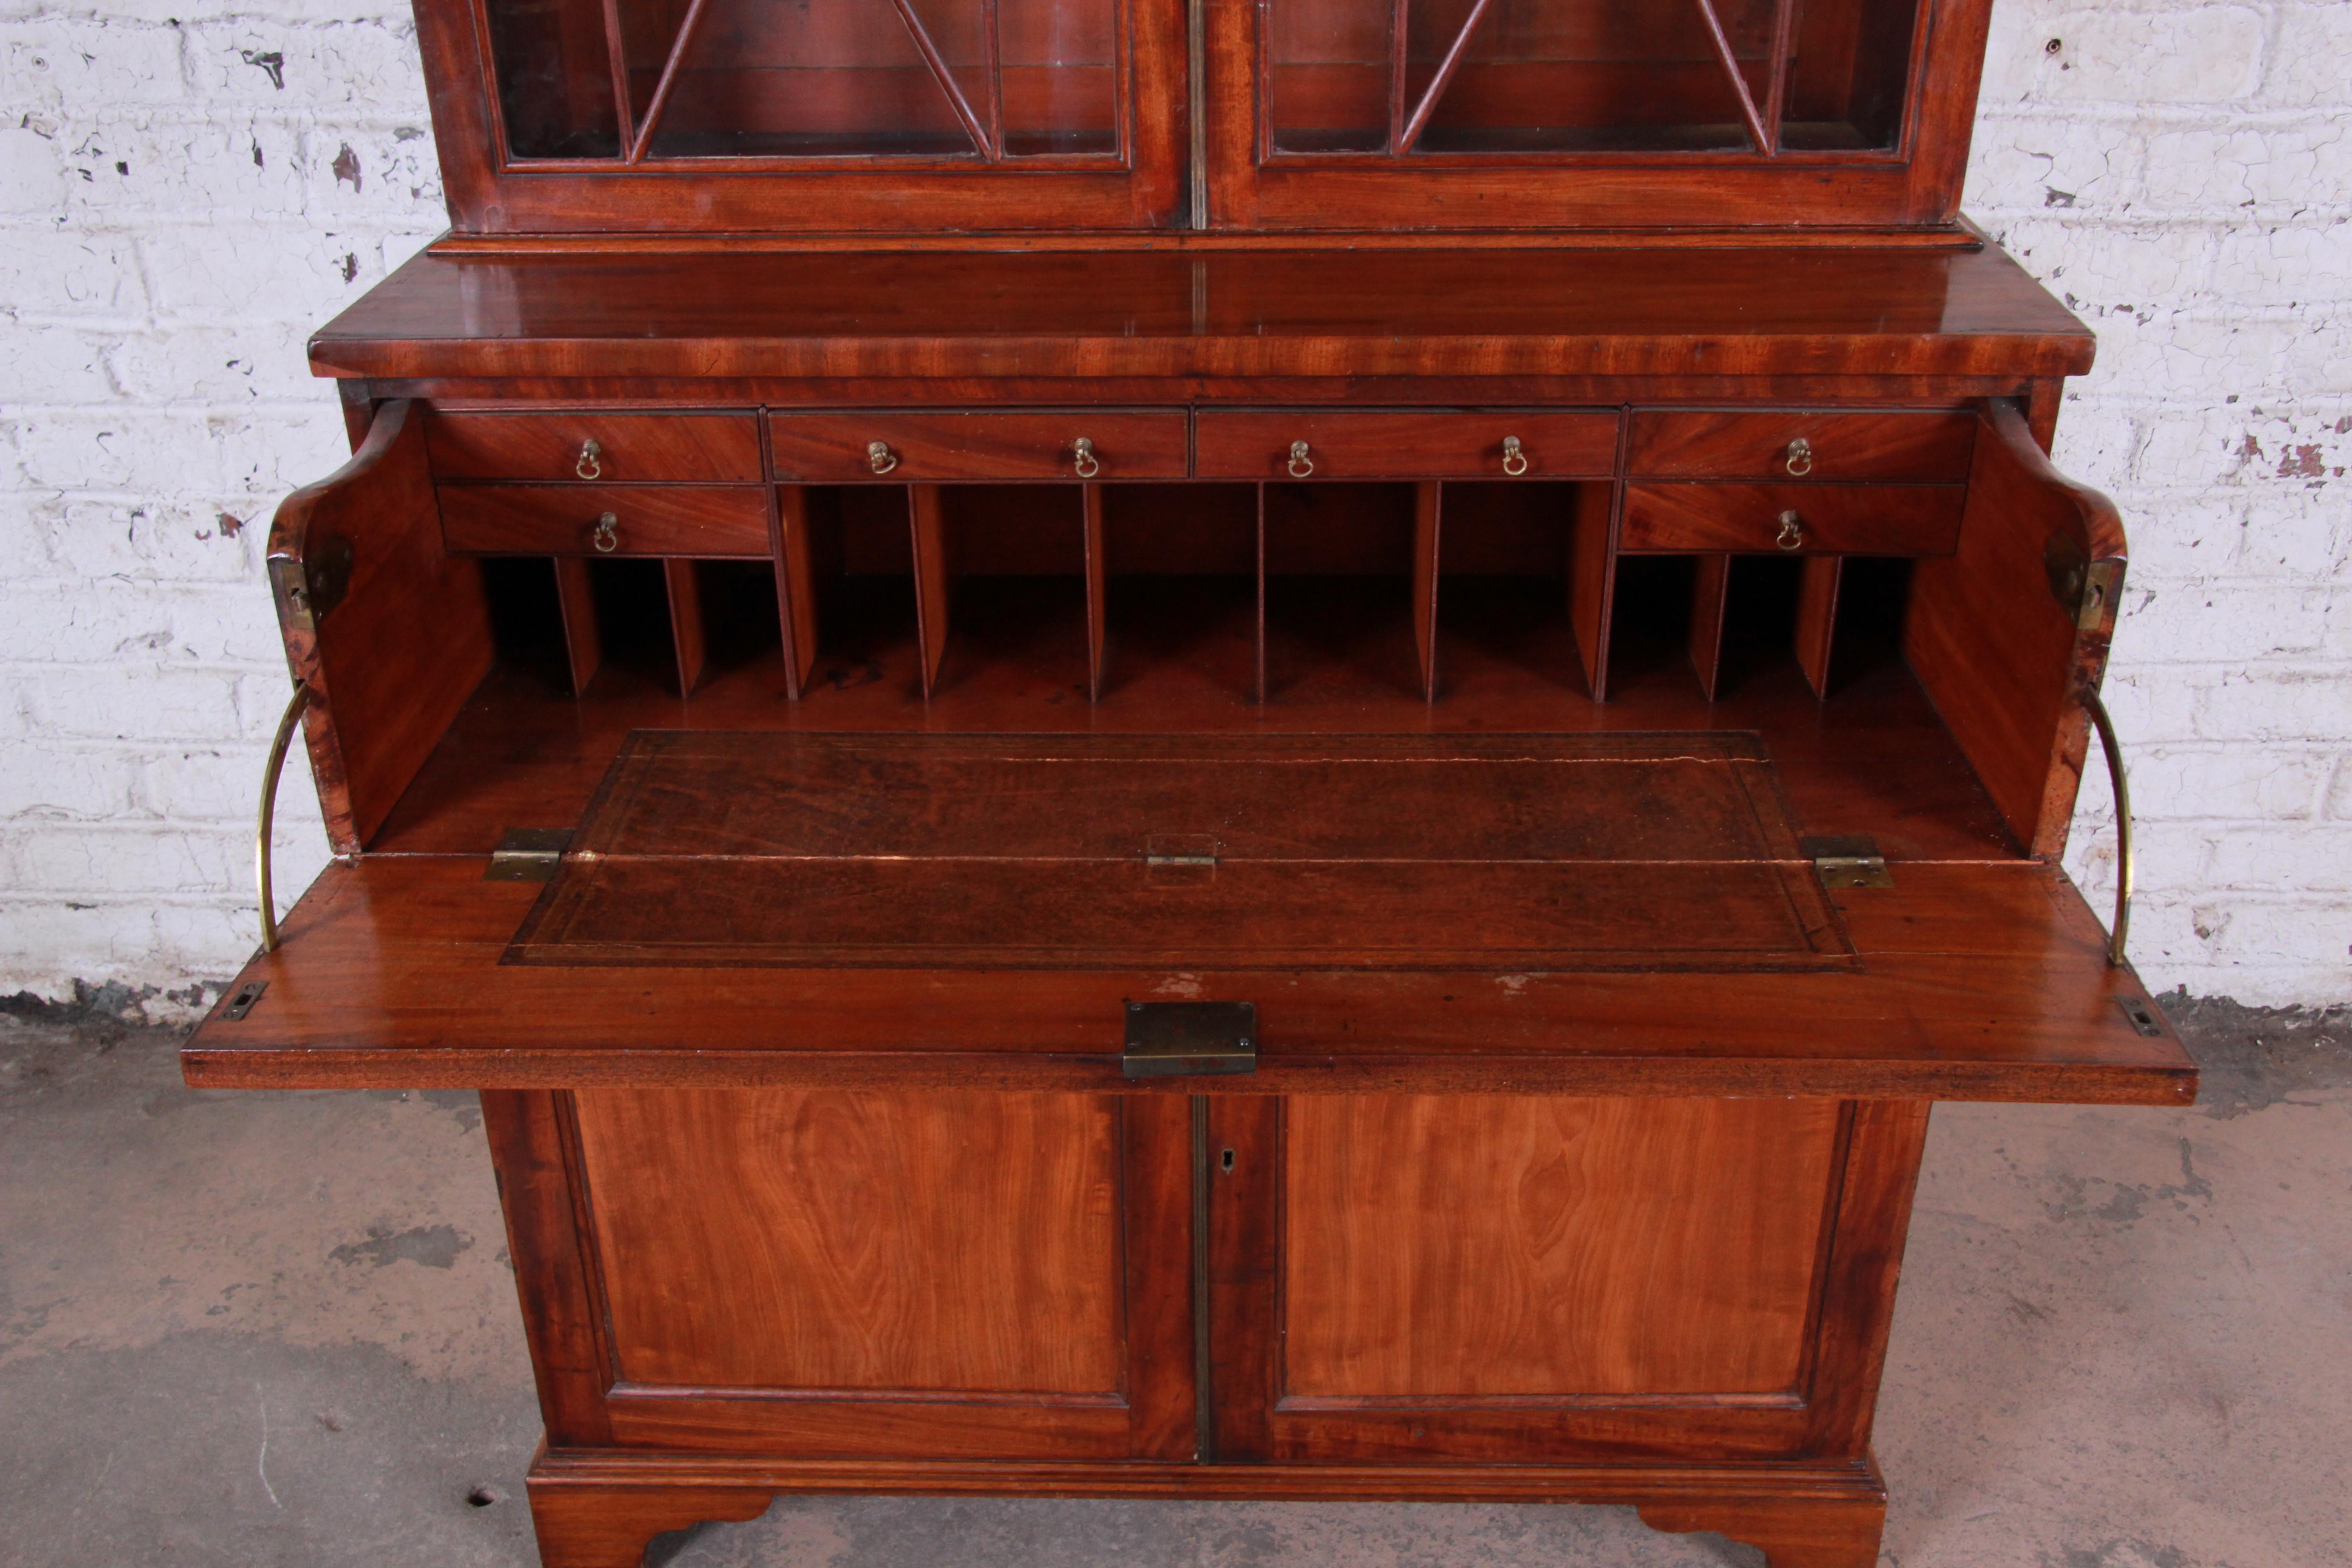
<svg viewBox="0 0 2352 1568"><path fill-rule="evenodd" d="M456 235L1148 230L1185 219L1185 0L1117 0L1120 153L1014 158L508 158L487 0L419 0Z"/></svg>

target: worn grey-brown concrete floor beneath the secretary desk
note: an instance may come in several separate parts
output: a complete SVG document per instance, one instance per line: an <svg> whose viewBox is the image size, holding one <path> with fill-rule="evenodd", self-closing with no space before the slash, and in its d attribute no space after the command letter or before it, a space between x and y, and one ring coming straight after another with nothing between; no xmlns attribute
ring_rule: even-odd
<svg viewBox="0 0 2352 1568"><path fill-rule="evenodd" d="M2183 1004L2197 1110L1936 1112L1879 1418L1893 1568L2352 1563L2352 1013ZM191 1093L0 1018L0 1563L532 1563L470 1093ZM668 1568L1668 1568L1623 1509L779 1502Z"/></svg>

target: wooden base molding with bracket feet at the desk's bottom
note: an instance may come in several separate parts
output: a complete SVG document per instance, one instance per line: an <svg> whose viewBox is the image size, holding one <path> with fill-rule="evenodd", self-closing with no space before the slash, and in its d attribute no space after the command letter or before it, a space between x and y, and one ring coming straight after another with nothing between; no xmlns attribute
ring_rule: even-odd
<svg viewBox="0 0 2352 1568"><path fill-rule="evenodd" d="M779 1495L1185 1497L1230 1502L1602 1502L1653 1530L1717 1530L1771 1568L1875 1568L1877 1462L1755 1465L1167 1465L769 1460L553 1448L532 1465L546 1568L642 1568L663 1530L746 1521Z"/></svg>

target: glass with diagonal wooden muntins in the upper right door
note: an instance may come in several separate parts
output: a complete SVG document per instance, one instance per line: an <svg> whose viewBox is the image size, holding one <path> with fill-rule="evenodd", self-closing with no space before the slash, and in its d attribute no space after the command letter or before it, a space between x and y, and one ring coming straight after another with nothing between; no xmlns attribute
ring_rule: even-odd
<svg viewBox="0 0 2352 1568"><path fill-rule="evenodd" d="M1893 150L1915 0L1265 0L1272 153Z"/></svg>

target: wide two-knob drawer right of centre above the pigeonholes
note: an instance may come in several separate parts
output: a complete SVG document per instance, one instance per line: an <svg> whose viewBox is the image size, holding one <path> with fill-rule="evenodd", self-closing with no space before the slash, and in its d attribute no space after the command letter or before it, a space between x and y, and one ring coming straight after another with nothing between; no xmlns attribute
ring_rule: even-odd
<svg viewBox="0 0 2352 1568"><path fill-rule="evenodd" d="M1512 437L1517 454L1508 447ZM1296 442L1305 442L1305 451L1294 461ZM1604 480L1616 473L1616 414L1202 414L1195 473L1204 480L1501 480L1522 473Z"/></svg>

